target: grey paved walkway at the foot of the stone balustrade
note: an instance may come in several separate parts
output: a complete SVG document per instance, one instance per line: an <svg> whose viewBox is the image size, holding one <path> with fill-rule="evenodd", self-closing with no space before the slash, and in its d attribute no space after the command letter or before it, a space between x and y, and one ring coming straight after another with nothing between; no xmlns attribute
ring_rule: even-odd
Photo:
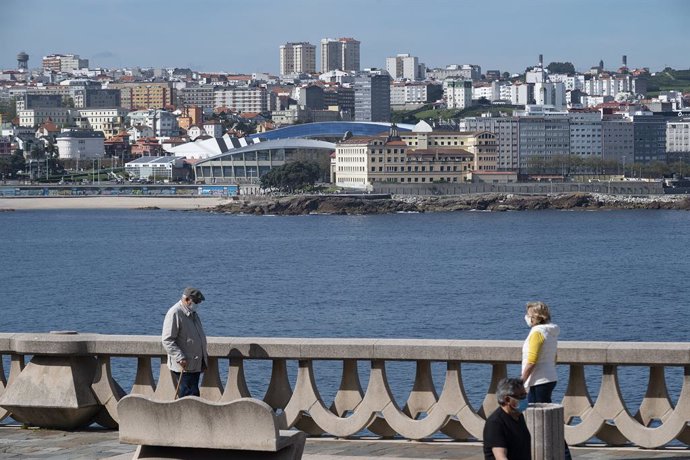
<svg viewBox="0 0 690 460"><path fill-rule="evenodd" d="M117 431L55 431L0 425L2 459L106 459L127 458L135 446L120 444ZM642 450L637 448L575 447L576 459L690 459L690 448ZM460 459L482 460L481 443L452 441L385 441L310 438L304 460ZM112 459L114 460L114 459Z"/></svg>

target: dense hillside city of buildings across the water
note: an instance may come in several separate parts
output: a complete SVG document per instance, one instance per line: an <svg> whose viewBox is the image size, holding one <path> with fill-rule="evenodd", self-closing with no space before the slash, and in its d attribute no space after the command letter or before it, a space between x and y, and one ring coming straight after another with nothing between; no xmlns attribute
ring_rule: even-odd
<svg viewBox="0 0 690 460"><path fill-rule="evenodd" d="M104 69L77 54L32 68L19 52L0 70L2 181L257 184L295 161L369 191L689 174L690 70L622 55L580 72L540 55L510 73L410 54L363 69L354 38L277 51L278 75Z"/></svg>

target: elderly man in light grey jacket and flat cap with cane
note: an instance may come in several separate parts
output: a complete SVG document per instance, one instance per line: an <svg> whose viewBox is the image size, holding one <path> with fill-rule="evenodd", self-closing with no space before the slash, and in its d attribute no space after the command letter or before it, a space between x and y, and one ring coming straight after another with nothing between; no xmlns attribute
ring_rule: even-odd
<svg viewBox="0 0 690 460"><path fill-rule="evenodd" d="M178 387L177 397L199 396L199 377L208 366L206 334L197 313L205 300L196 288L188 287L170 307L163 321L161 339L168 354L168 367Z"/></svg>

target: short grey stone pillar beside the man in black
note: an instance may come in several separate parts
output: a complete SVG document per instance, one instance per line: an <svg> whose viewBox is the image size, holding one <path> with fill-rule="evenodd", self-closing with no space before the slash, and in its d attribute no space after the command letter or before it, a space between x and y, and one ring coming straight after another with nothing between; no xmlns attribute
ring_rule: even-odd
<svg viewBox="0 0 690 460"><path fill-rule="evenodd" d="M525 411L525 420L532 435L532 460L563 460L563 406L547 403L530 404Z"/></svg>

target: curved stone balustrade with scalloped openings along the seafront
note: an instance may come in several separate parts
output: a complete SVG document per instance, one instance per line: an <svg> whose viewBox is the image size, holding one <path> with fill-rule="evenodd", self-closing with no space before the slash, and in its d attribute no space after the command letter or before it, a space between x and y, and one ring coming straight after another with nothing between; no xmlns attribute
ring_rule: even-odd
<svg viewBox="0 0 690 460"><path fill-rule="evenodd" d="M201 396L219 402L252 396L244 363L267 360L272 371L263 400L276 410L283 429L297 427L310 435L337 437L366 429L382 437L423 439L444 434L456 440L481 439L485 416L496 408L496 385L507 375L509 364L519 363L521 347L518 341L493 340L212 337ZM95 421L116 428L117 402L125 395L111 371L111 358L117 357L136 358L132 394L174 398L175 382L157 336L0 334L0 354L10 363L7 378L0 372L0 420L11 414L36 426L73 429ZM219 365L223 360L228 365L225 383ZM340 386L330 405L316 383L314 367L319 361L342 363ZM387 363L401 361L416 364L414 383L402 407L386 375ZM154 362L160 365L157 380ZM289 362L298 365L294 385L288 378ZM440 394L433 380L435 362L446 364ZM560 342L558 362L569 369L561 401L569 444L593 437L610 445L632 443L644 448L674 440L690 444L690 343ZM369 366L366 389L360 383L358 363ZM474 387L488 386L477 408L469 402L462 377L463 366L469 364L491 368L488 385L472 382ZM595 399L587 388L585 366L601 369ZM622 366L648 369L646 393L640 395L642 403L634 415L619 388ZM667 391L667 368L683 373L675 405Z"/></svg>

